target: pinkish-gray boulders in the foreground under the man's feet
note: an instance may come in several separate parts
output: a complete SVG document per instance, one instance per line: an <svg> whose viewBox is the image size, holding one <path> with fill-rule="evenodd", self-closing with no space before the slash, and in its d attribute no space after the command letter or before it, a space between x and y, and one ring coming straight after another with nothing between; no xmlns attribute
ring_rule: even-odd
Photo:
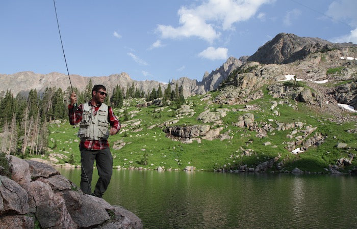
<svg viewBox="0 0 357 229"><path fill-rule="evenodd" d="M52 166L9 156L11 179L0 176L0 225L12 228L142 228L120 206L83 194Z"/></svg>

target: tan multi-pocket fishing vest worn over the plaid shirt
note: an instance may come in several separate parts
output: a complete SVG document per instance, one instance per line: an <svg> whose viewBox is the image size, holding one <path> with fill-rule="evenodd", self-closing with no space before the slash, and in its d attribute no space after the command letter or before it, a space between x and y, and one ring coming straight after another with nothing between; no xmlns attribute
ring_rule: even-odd
<svg viewBox="0 0 357 229"><path fill-rule="evenodd" d="M83 104L78 136L81 140L103 140L109 137L108 105L102 103L94 116L88 103Z"/></svg>

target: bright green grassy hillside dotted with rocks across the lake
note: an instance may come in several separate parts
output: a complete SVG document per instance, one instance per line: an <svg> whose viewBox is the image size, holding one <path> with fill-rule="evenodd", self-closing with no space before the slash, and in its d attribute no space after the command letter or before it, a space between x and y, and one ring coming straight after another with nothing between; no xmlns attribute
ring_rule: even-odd
<svg viewBox="0 0 357 229"><path fill-rule="evenodd" d="M289 101L286 99L272 98L266 92L264 97L253 100L244 105L220 105L212 103L212 98L218 92L212 94L211 99L202 100L204 96L193 96L186 100L186 104L194 109L192 117L186 116L171 126L183 126L202 124L197 117L205 109L216 111L226 108L226 116L221 121L207 123L211 129L222 127L220 134L227 134L233 138L220 140L193 140L191 144L183 143L166 137L164 127L160 124L175 118L176 107L150 106L135 107L140 101L127 100L122 109L114 112L121 121L120 133L109 138L111 152L114 157L114 166L121 168L147 168L157 169L184 169L186 166L194 166L196 170L236 170L240 167L256 167L258 164L275 158L275 162L269 170L291 171L295 167L303 171L329 173L327 169L331 165L337 165L340 158L351 158L357 154L356 133L348 130L357 128L355 123L331 122L328 114L316 113L305 103ZM207 98L207 95L206 95ZM280 116L273 114L271 105L276 101ZM249 110L246 107L254 107ZM124 121L125 115L129 121ZM253 113L254 121L258 127L271 126L275 130L267 131L266 136L257 136L257 131L246 127L233 125L238 122L238 117L243 113ZM345 112L341 110L341 112ZM346 116L354 116L353 113L345 113ZM303 127L289 130L276 130L278 123L301 122ZM292 139L301 139L302 132L307 126L317 127L315 131L304 137L302 143L317 133L322 134L325 140L319 146L311 146L307 151L292 154L287 149L288 142ZM294 132L292 132L295 130ZM49 125L48 145L49 151L43 159L49 156L56 158L57 164L71 163L80 165L79 142L76 133L77 128L70 126L67 120L61 123ZM295 133L296 132L296 133ZM293 133L293 134L292 134ZM296 140L295 140L296 141ZM269 144L270 142L270 144ZM338 143L347 144L344 148L337 148ZM117 146L122 145L121 149ZM114 147L114 149L113 149ZM298 146L297 146L298 147ZM65 155L65 156L61 156ZM356 160L350 165L340 165L339 170L347 172L357 166Z"/></svg>

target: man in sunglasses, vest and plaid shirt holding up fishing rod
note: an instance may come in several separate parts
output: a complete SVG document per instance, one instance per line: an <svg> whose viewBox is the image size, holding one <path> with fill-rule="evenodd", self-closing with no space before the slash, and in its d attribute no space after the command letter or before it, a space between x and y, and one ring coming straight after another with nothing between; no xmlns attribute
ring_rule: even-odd
<svg viewBox="0 0 357 229"><path fill-rule="evenodd" d="M94 85L92 99L78 107L75 92L70 96L68 105L69 123L80 124L80 151L82 162L81 190L86 194L102 197L107 190L113 173L113 157L109 149L108 137L120 130L120 123L115 117L113 109L104 104L107 97L104 85ZM109 124L111 126L108 131ZM92 174L94 160L98 169L99 179L92 192Z"/></svg>

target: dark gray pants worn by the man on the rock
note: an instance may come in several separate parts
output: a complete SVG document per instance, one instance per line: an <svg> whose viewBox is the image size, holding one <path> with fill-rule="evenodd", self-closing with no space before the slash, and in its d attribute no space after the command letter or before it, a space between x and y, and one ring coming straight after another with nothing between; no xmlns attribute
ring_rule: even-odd
<svg viewBox="0 0 357 229"><path fill-rule="evenodd" d="M86 194L92 194L97 197L102 197L110 183L113 174L113 157L110 149L103 150L81 150L82 174L81 174L81 190ZM94 160L98 169L99 179L92 192L92 174Z"/></svg>

